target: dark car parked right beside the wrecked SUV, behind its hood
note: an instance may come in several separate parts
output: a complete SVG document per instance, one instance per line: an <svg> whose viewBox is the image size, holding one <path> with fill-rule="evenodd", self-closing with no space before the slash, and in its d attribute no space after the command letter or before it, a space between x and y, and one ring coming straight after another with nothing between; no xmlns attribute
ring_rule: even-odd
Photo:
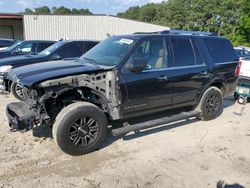
<svg viewBox="0 0 250 188"><path fill-rule="evenodd" d="M21 99L22 97L21 87L17 83L12 84L11 81L5 79L5 75L10 69L45 61L56 61L67 58L74 59L83 55L96 44L98 44L97 41L88 40L59 41L37 55L2 59L0 60L0 92L11 91L17 99Z"/></svg>

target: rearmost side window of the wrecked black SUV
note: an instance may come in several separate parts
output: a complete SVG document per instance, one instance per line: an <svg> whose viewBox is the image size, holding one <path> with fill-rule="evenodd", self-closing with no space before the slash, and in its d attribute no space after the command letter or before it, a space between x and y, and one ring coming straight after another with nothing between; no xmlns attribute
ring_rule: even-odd
<svg viewBox="0 0 250 188"><path fill-rule="evenodd" d="M207 38L203 40L215 64L237 60L237 55L229 40L223 38Z"/></svg>

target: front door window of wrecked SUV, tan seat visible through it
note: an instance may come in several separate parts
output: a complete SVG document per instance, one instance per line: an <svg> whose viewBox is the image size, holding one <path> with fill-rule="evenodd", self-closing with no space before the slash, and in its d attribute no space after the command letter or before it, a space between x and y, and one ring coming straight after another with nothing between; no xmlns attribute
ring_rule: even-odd
<svg viewBox="0 0 250 188"><path fill-rule="evenodd" d="M166 51L163 39L151 39L143 41L132 57L135 62L136 59L143 59L147 63L148 69L160 69L167 66Z"/></svg>

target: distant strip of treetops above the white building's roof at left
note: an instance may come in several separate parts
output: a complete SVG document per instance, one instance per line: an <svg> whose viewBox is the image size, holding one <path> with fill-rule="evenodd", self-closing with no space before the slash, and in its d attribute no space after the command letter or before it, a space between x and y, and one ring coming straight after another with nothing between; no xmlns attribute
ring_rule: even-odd
<svg viewBox="0 0 250 188"><path fill-rule="evenodd" d="M47 6L43 6L43 7L38 7L35 9L30 9L30 8L26 8L24 10L25 14L60 14L60 15L64 15L64 14L74 14L74 15L91 15L93 14L89 9L69 9L67 7L64 6L60 6L60 7L53 7L52 9L50 9Z"/></svg>

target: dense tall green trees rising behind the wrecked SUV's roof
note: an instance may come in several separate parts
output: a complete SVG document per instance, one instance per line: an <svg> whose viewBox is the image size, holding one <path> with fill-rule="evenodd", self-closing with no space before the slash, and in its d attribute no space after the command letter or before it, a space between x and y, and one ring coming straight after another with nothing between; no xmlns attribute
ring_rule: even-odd
<svg viewBox="0 0 250 188"><path fill-rule="evenodd" d="M118 17L173 29L215 32L250 46L250 0L168 0L133 6Z"/></svg>

